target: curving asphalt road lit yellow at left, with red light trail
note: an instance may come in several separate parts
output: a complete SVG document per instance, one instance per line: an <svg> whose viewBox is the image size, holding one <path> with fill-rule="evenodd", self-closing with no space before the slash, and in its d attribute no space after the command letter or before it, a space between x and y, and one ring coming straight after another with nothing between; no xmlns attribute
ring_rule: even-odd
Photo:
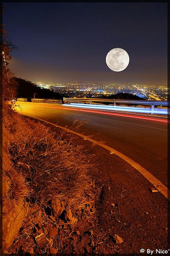
<svg viewBox="0 0 170 256"><path fill-rule="evenodd" d="M16 102L17 111L72 128L84 120L78 132L128 156L167 186L167 122L165 118L85 110L62 105ZM143 119L144 118L144 119Z"/></svg>

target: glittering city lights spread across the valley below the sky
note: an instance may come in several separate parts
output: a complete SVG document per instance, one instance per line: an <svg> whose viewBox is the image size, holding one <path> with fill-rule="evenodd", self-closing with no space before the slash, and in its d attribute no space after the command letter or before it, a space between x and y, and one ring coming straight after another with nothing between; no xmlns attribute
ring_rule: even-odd
<svg viewBox="0 0 170 256"><path fill-rule="evenodd" d="M167 84L148 83L148 84L134 84L132 83L89 83L84 82L78 84L68 83L61 84L55 82L37 82L40 88L46 88L65 94L68 97L86 97L86 98L102 98L103 96L110 96L118 93L128 93L145 100L167 100L168 88Z"/></svg>

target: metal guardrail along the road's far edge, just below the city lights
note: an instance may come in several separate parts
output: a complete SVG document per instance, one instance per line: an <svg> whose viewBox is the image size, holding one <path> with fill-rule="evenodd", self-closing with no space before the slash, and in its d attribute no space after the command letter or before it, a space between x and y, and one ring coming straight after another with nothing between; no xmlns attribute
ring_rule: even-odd
<svg viewBox="0 0 170 256"><path fill-rule="evenodd" d="M168 106L166 100L115 100L115 99L97 99L97 98L63 98L64 103L67 102L110 102L110 103L126 103L126 104L140 104L150 106Z"/></svg>

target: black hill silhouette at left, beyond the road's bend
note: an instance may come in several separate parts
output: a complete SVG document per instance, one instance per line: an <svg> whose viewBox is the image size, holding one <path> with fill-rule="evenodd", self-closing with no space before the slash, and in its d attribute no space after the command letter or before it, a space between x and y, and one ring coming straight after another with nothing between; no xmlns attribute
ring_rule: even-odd
<svg viewBox="0 0 170 256"><path fill-rule="evenodd" d="M43 99L57 99L62 100L63 96L57 92L42 89L38 87L36 84L24 80L22 78L14 78L18 83L17 86L17 98L34 98L34 93L36 93L36 98L43 98Z"/></svg>

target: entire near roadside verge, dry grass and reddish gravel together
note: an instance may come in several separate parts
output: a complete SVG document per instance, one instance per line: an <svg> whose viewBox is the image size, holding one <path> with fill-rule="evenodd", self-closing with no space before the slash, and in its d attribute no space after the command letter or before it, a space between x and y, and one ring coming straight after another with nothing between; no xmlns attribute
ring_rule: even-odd
<svg viewBox="0 0 170 256"><path fill-rule="evenodd" d="M5 252L21 246L32 255L168 248L167 199L150 192L152 184L120 157L7 106L3 147ZM42 247L36 242L41 234Z"/></svg>

